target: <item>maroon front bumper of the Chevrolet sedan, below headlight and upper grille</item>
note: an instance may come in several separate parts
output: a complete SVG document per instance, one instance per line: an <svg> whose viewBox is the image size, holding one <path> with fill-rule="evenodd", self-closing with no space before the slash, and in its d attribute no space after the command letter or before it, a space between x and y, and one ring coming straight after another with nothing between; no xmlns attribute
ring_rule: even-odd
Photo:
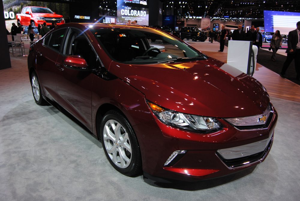
<svg viewBox="0 0 300 201"><path fill-rule="evenodd" d="M176 129L161 123L157 118L155 121L134 126L137 133L143 133L138 140L144 175L158 181L160 178L164 181L198 181L239 172L265 160L273 142L277 121L275 110L271 122L265 129L241 131L225 120L219 121L224 125L223 130L209 134ZM237 150L235 148L247 147L253 143L255 145L259 141L265 142L263 149L260 147L257 152L251 152L245 157L228 158L220 154L221 151L232 148L234 151ZM164 166L166 160L176 150L186 150L186 153L174 163Z"/></svg>

